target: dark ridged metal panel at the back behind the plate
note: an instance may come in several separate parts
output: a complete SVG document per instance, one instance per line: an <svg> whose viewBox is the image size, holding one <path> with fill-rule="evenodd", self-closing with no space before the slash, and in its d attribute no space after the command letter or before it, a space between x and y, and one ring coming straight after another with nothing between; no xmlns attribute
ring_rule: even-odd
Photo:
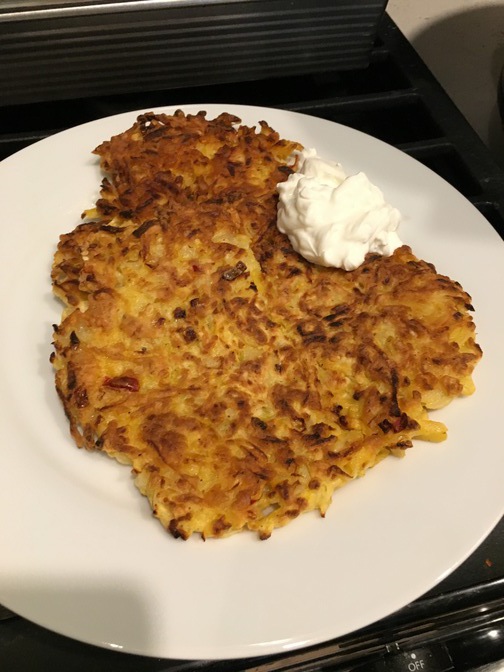
<svg viewBox="0 0 504 672"><path fill-rule="evenodd" d="M362 68L386 2L18 0L17 11L3 4L5 105Z"/></svg>

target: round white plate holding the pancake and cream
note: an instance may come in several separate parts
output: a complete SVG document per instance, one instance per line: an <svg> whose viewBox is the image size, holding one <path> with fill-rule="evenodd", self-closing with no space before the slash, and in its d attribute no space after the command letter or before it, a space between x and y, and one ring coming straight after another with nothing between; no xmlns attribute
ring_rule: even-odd
<svg viewBox="0 0 504 672"><path fill-rule="evenodd" d="M0 602L56 632L170 658L284 652L339 637L419 597L504 512L504 245L451 186L378 140L329 121L234 105L252 124L364 170L404 215L416 254L473 296L484 358L477 392L437 413L442 444L417 442L268 541L166 534L129 470L77 450L49 364L60 319L49 273L59 234L93 204L91 150L136 112L84 124L0 164ZM173 111L173 110L166 110Z"/></svg>

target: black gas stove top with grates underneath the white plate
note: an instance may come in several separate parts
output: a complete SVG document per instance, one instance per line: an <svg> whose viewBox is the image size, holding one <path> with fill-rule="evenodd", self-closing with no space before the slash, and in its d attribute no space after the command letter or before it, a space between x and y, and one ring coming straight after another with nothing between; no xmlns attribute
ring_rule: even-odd
<svg viewBox="0 0 504 672"><path fill-rule="evenodd" d="M504 237L504 172L384 16L370 64L243 83L100 95L0 107L0 157L64 128L134 109L191 102L280 107L337 121L415 157L457 188ZM435 549L433 549L435 550ZM291 655L170 661L115 653L19 617L0 621L0 670L497 670L504 669L504 520L452 575L391 617Z"/></svg>

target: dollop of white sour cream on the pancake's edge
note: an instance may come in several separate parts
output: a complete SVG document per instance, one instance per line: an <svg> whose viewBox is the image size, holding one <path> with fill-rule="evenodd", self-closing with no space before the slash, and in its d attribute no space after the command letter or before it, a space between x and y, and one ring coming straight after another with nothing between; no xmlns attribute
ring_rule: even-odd
<svg viewBox="0 0 504 672"><path fill-rule="evenodd" d="M314 149L292 160L296 171L277 185L277 226L305 259L351 271L368 252L390 256L402 245L399 210L364 173L349 176Z"/></svg>

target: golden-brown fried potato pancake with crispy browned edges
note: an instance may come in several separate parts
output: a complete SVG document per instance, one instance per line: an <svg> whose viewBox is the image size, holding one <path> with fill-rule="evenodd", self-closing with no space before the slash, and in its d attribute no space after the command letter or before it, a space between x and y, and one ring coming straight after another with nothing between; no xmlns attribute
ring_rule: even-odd
<svg viewBox="0 0 504 672"><path fill-rule="evenodd" d="M276 226L300 146L229 114L141 115L62 235L51 357L79 447L132 467L175 537L261 539L473 392L471 299L404 246L315 266Z"/></svg>

